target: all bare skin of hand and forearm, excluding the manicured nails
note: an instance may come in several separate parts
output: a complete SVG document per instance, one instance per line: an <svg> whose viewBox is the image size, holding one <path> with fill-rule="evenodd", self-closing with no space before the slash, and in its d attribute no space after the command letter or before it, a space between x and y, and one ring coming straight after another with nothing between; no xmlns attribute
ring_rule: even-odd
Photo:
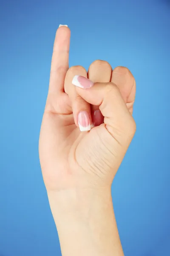
<svg viewBox="0 0 170 256"><path fill-rule="evenodd" d="M136 83L125 67L94 61L68 68L70 29L57 29L40 132L40 163L62 256L123 256L111 184L136 131ZM75 75L94 82L72 84ZM104 122L81 132L79 111L100 110ZM92 119L91 119L92 121Z"/></svg>

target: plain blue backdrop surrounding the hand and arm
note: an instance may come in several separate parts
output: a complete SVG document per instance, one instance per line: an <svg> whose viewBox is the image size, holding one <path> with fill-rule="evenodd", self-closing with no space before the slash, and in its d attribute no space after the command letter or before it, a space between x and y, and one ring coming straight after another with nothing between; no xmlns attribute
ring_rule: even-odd
<svg viewBox="0 0 170 256"><path fill-rule="evenodd" d="M125 256L170 255L170 1L0 1L0 256L60 256L38 140L59 24L70 66L136 78L137 131L113 181Z"/></svg>

